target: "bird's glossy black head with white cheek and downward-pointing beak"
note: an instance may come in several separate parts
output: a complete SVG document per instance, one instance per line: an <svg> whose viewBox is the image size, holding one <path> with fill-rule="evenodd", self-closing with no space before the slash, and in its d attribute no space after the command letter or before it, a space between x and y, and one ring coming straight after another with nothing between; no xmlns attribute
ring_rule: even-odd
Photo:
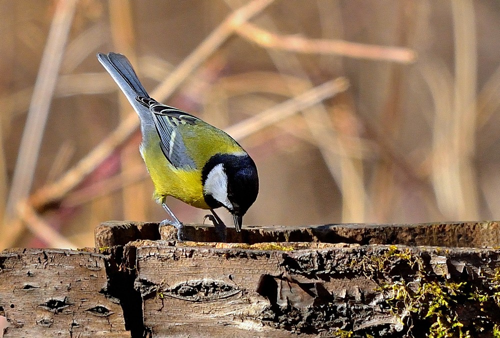
<svg viewBox="0 0 500 338"><path fill-rule="evenodd" d="M232 213L236 231L243 215L257 198L258 175L253 160L241 155L215 154L201 172L203 196L212 209L224 206Z"/></svg>

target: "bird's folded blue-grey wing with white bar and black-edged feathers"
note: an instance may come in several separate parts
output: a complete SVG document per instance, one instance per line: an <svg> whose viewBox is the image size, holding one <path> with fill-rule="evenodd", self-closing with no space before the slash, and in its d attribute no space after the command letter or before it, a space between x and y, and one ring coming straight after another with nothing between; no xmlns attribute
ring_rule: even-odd
<svg viewBox="0 0 500 338"><path fill-rule="evenodd" d="M138 96L137 101L149 107L160 139L159 146L168 161L176 168L195 169L196 164L187 151L179 126L194 125L201 120L151 98Z"/></svg>

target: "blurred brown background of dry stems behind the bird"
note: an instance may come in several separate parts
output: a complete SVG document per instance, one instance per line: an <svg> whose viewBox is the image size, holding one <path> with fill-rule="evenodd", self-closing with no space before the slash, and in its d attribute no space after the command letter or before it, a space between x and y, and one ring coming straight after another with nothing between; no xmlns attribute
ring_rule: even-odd
<svg viewBox="0 0 500 338"><path fill-rule="evenodd" d="M166 217L108 51L250 153L244 224L500 218L496 0L0 0L0 15L0 248L93 246L99 222Z"/></svg>

